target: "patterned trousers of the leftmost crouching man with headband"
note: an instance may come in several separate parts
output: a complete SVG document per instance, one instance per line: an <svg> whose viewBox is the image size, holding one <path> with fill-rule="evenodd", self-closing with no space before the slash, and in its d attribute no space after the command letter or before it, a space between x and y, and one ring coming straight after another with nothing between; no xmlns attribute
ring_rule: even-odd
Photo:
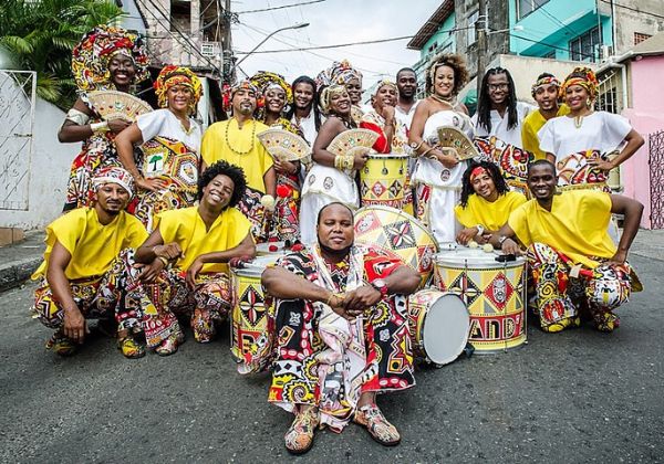
<svg viewBox="0 0 664 464"><path fill-rule="evenodd" d="M139 331L141 306L124 292L124 274L123 254L121 254L104 275L70 281L70 289L76 306L86 319L114 318L118 330ZM64 309L53 296L45 278L34 291L32 312L46 327L60 329L64 324Z"/></svg>

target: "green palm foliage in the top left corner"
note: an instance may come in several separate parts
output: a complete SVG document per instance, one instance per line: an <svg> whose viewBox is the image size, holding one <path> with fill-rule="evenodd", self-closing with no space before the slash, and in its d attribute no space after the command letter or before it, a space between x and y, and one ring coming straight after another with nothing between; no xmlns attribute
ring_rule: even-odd
<svg viewBox="0 0 664 464"><path fill-rule="evenodd" d="M122 14L111 0L1 0L0 49L19 70L37 71L38 95L66 110L76 97L73 48Z"/></svg>

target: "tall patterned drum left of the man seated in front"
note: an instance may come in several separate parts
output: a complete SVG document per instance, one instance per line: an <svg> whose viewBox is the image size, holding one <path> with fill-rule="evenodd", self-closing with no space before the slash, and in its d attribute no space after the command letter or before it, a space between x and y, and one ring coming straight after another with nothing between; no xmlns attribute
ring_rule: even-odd
<svg viewBox="0 0 664 464"><path fill-rule="evenodd" d="M230 351L240 373L260 372L272 361L274 308L266 306L260 276L281 256L258 256L242 267L231 268Z"/></svg>

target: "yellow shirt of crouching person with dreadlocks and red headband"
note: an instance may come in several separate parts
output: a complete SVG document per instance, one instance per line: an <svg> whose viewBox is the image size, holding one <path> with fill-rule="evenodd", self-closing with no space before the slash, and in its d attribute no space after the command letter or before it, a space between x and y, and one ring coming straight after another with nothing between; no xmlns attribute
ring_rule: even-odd
<svg viewBox="0 0 664 464"><path fill-rule="evenodd" d="M457 204L454 213L464 228L481 224L488 231L498 231L507 223L509 214L526 201L526 197L519 192L501 194L492 203L474 193L468 197L466 208Z"/></svg>

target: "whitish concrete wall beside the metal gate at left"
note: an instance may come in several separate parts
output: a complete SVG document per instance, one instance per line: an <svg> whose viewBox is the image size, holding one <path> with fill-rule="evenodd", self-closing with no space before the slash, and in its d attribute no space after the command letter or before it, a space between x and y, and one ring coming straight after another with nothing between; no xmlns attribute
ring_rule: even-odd
<svg viewBox="0 0 664 464"><path fill-rule="evenodd" d="M81 144L58 141L58 129L64 116L56 106L37 98L29 208L27 211L0 210L0 226L40 229L60 215L70 166L81 149Z"/></svg>

